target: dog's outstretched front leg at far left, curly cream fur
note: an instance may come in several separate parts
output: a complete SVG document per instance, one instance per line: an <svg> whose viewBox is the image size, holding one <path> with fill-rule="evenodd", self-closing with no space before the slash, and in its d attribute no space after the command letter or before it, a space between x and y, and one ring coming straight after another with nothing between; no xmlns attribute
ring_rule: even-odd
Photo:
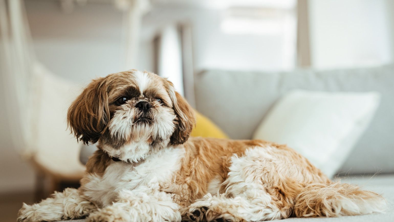
<svg viewBox="0 0 394 222"><path fill-rule="evenodd" d="M58 221L82 218L96 210L95 205L82 198L77 189L66 188L55 192L40 203L23 203L18 212L17 222Z"/></svg>

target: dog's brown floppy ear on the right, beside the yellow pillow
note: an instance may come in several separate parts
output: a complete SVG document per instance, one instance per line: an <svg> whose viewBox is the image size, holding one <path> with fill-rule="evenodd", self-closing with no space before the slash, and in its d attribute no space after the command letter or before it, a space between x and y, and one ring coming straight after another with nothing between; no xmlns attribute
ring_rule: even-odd
<svg viewBox="0 0 394 222"><path fill-rule="evenodd" d="M174 89L173 83L164 80L167 92L173 102L173 109L177 118L176 128L171 135L170 143L172 145L182 144L188 140L191 130L196 122L195 113L189 103Z"/></svg>

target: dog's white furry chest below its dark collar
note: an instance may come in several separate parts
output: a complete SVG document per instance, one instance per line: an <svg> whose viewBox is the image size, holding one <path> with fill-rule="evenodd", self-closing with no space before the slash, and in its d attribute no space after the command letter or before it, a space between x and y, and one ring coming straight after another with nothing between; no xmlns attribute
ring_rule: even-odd
<svg viewBox="0 0 394 222"><path fill-rule="evenodd" d="M87 175L89 182L84 184L84 195L99 205L105 207L116 199L121 198L122 190L151 193L160 188L163 183L171 181L180 169L183 148L165 148L149 156L139 164L111 162L102 176Z"/></svg>

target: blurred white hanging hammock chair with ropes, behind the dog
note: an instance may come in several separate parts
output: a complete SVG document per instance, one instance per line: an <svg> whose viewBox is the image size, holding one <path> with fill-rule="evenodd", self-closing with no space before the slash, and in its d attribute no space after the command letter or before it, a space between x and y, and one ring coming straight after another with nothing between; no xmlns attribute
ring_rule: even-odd
<svg viewBox="0 0 394 222"><path fill-rule="evenodd" d="M126 5L128 68L136 55L136 30L144 11L139 2ZM78 181L85 169L79 160L81 144L67 130L66 113L83 85L54 75L37 60L22 0L0 0L0 32L2 87L6 103L14 104L4 108L12 123L14 147L25 160L54 179Z"/></svg>

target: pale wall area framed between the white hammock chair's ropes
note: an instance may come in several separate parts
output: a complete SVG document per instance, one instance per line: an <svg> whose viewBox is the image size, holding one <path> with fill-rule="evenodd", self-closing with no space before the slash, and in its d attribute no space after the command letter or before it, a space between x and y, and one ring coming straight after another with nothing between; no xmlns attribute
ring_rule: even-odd
<svg viewBox="0 0 394 222"><path fill-rule="evenodd" d="M69 14L57 1L26 1L26 8L35 52L56 75L89 81L123 71L123 19L112 4L77 6Z"/></svg>

